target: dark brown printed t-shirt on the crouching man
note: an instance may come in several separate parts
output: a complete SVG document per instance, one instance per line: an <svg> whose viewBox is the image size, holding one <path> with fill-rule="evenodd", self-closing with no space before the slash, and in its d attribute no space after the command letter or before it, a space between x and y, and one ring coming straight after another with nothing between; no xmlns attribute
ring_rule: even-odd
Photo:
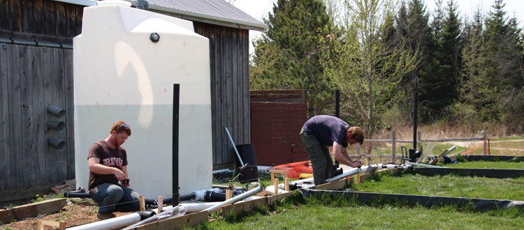
<svg viewBox="0 0 524 230"><path fill-rule="evenodd" d="M122 170L122 166L127 165L127 153L126 150L119 146L117 148L111 148L104 140L96 141L89 148L89 158L99 158L100 164L108 167L115 167ZM118 179L115 174L95 174L89 171L89 195L93 196L93 192L96 186L103 183L117 184Z"/></svg>

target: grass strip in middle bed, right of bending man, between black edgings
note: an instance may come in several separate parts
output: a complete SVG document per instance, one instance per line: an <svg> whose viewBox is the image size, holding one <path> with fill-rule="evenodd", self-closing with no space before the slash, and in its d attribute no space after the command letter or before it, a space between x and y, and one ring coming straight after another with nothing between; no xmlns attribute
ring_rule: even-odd
<svg viewBox="0 0 524 230"><path fill-rule="evenodd" d="M524 199L524 177L483 178L466 176L421 176L403 174L384 175L376 180L354 184L356 192L379 192L387 194L416 194L441 197L468 197L485 199Z"/></svg>

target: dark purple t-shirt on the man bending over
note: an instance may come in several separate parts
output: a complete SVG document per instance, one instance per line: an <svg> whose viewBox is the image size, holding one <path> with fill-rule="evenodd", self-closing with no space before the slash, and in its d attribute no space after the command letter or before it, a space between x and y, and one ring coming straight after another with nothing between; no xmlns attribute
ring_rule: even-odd
<svg viewBox="0 0 524 230"><path fill-rule="evenodd" d="M347 142L344 139L349 125L336 116L314 116L304 123L303 128L304 132L319 139L320 144L333 146L333 141L335 141L347 148Z"/></svg>

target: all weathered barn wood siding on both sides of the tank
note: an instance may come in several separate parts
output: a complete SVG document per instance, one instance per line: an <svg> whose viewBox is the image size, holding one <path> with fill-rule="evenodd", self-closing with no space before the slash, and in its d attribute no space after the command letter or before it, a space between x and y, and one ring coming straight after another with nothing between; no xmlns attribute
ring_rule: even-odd
<svg viewBox="0 0 524 230"><path fill-rule="evenodd" d="M51 0L0 0L0 203L47 194L75 178L72 38L81 33L84 6ZM232 168L235 144L250 144L249 31L194 22L210 39L214 169ZM14 42L13 42L14 41ZM43 44L48 45L43 45ZM66 109L66 117L47 112ZM64 121L66 130L49 130ZM49 138L66 141L60 152Z"/></svg>

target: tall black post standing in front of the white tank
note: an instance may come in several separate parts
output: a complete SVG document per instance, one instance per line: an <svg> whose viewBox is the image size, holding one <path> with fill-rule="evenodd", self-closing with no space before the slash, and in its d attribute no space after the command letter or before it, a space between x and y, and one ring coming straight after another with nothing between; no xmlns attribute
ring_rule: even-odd
<svg viewBox="0 0 524 230"><path fill-rule="evenodd" d="M180 111L180 84L173 84L173 207L180 204L178 191L178 122Z"/></svg>

